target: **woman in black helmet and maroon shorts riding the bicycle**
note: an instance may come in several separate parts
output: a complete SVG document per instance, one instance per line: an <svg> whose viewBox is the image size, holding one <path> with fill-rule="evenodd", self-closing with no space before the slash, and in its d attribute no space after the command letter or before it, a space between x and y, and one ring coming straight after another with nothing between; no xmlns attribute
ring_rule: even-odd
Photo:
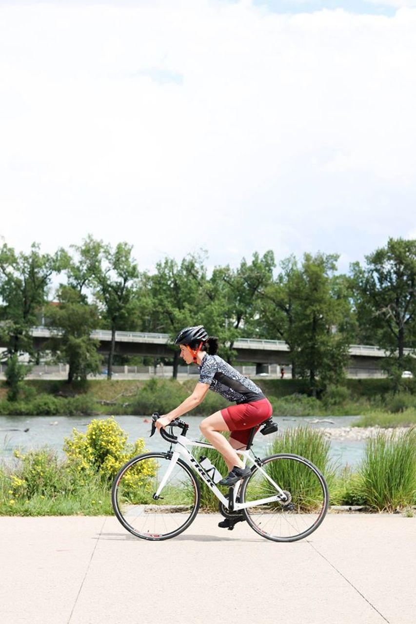
<svg viewBox="0 0 416 624"><path fill-rule="evenodd" d="M208 416L199 428L212 446L224 457L229 474L220 485L234 485L250 474L234 449L245 449L252 427L260 426L272 415L272 406L251 379L244 377L216 353L218 339L208 336L202 325L186 327L177 334L175 343L181 348L181 358L186 364L197 364L199 381L191 396L156 421L157 429L166 427L172 420L191 411L205 398L207 392L219 392L235 405L225 407ZM229 441L221 432L230 431ZM220 523L220 526L228 524Z"/></svg>

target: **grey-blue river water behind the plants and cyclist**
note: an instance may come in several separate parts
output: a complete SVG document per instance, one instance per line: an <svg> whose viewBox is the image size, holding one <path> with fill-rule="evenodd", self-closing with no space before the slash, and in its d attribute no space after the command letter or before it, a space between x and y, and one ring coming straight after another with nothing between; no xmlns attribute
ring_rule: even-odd
<svg viewBox="0 0 416 624"><path fill-rule="evenodd" d="M308 425L314 429L338 429L339 427L352 427L359 416L328 416L325 422L314 422L316 417L275 417L280 431L289 427ZM71 436L75 427L85 432L87 424L92 420L88 416L0 416L0 458L10 459L13 451L20 448L23 451L34 449L47 444L55 449L59 456L63 457L62 444L64 437ZM151 424L145 421L144 416L117 416L116 421L122 429L129 434L129 441L137 437L143 437L146 441L146 449L161 451L166 449L167 443L157 434L149 439ZM199 423L202 417L191 416L189 422L189 437L199 439ZM328 421L333 421L331 424ZM279 435L270 434L262 436L260 433L254 439L254 451L264 456L266 447L273 437ZM330 456L337 462L339 467L349 464L356 466L363 454L365 441L362 439L342 439L337 436L330 439Z"/></svg>

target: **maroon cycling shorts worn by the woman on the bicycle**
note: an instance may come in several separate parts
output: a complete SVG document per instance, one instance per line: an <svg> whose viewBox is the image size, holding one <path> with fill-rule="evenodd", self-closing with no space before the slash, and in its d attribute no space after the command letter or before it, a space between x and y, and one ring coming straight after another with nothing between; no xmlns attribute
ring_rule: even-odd
<svg viewBox="0 0 416 624"><path fill-rule="evenodd" d="M221 414L231 432L230 437L246 445L249 441L250 429L256 426L258 429L262 422L272 416L272 411L270 401L261 399L252 403L230 405L222 409Z"/></svg>

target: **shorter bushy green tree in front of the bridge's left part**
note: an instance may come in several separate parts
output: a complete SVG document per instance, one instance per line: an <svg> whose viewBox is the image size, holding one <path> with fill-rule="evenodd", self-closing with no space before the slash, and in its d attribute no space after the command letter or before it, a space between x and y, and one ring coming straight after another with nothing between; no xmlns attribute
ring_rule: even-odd
<svg viewBox="0 0 416 624"><path fill-rule="evenodd" d="M46 309L46 324L55 333L52 353L57 361L69 364L68 383L86 381L89 374L101 370L99 342L91 338L97 321L96 306L82 301L81 293L71 286L61 286L57 305L50 304Z"/></svg>

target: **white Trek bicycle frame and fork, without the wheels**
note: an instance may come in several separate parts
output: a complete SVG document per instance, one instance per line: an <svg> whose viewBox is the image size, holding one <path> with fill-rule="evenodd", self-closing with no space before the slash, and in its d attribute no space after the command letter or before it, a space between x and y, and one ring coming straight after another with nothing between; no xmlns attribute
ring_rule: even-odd
<svg viewBox="0 0 416 624"><path fill-rule="evenodd" d="M220 490L215 485L214 481L210 478L209 474L207 474L207 472L202 468L202 466L199 465L199 462L197 462L197 460L192 455L192 453L187 449L188 446L199 446L204 449L214 449L214 446L212 446L212 444L209 444L209 442L198 442L196 440L190 440L186 436L178 436L175 446L177 450L172 452L171 462L169 466L167 467L165 474L162 477L162 480L159 484L159 487L156 490L156 494L154 495L154 497L157 498L161 495L161 492L164 486L166 485L166 482L169 479L169 476L171 475L171 472L174 469L177 460L179 459L179 457L182 456L184 461L186 461L186 463L189 466L194 468L194 470L196 470L199 476L202 477L202 479L204 479L206 484L209 485L211 491L215 494L217 499L224 505L224 507L229 509L229 499L225 498L224 494L220 492ZM250 464L255 464L255 466L257 467L257 470L260 470L260 472L264 475L264 477L267 480L269 480L270 483L274 485L277 492L279 492L279 494L276 494L274 496L269 496L266 499L254 500L249 503L240 503L240 502L237 502L237 494L239 491L239 487L232 486L230 489L232 489L233 497L234 497L232 500L232 503L233 503L232 509L234 511L239 511L240 509L245 509L247 507L255 507L256 505L264 505L266 503L275 502L276 500L285 501L287 499L285 492L282 489L280 489L279 485L277 485L277 483L275 483L274 480L270 478L267 472L265 472L265 470L263 470L262 467L257 462L255 462L254 459L252 459L252 457L250 457L250 451L237 451L237 449L234 449L234 450L242 457L244 464L247 461ZM240 485L240 482L237 482L237 484L235 485Z"/></svg>

